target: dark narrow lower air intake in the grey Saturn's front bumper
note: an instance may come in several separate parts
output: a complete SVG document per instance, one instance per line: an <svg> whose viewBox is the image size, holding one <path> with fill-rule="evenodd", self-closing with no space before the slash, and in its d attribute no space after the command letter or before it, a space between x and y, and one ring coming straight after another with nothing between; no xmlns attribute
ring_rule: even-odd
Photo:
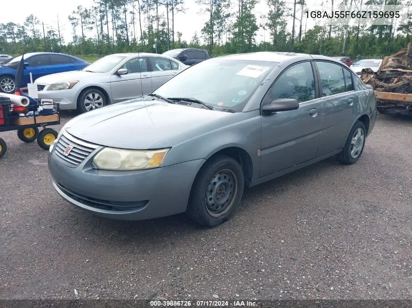
<svg viewBox="0 0 412 308"><path fill-rule="evenodd" d="M107 211L131 211L137 210L144 207L149 201L136 201L136 202L124 202L124 201L107 201L101 199L95 199L87 196L80 195L74 191L69 190L58 182L55 182L56 185L70 198L75 199L76 201L92 206L98 209L107 210Z"/></svg>

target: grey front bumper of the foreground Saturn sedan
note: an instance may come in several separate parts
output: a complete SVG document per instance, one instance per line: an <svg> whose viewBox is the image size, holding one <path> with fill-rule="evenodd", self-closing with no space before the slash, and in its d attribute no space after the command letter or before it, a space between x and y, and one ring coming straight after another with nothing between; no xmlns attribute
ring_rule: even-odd
<svg viewBox="0 0 412 308"><path fill-rule="evenodd" d="M140 220L186 211L190 190L204 160L139 171L96 170L92 153L77 167L68 167L49 154L52 183L59 195L101 217Z"/></svg>

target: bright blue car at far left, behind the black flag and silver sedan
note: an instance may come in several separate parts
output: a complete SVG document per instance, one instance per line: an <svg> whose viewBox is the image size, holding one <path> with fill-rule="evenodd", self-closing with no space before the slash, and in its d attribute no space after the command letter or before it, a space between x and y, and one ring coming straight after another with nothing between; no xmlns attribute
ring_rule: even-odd
<svg viewBox="0 0 412 308"><path fill-rule="evenodd" d="M16 90L15 76L21 55L0 65L0 92L14 93ZM33 82L45 75L58 72L78 71L90 63L68 54L30 53L24 54L24 79L22 87L30 83L30 73Z"/></svg>

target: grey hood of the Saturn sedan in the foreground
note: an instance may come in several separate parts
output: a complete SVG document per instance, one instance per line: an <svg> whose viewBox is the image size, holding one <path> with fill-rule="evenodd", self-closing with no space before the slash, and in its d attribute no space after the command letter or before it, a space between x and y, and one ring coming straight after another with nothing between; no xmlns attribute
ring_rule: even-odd
<svg viewBox="0 0 412 308"><path fill-rule="evenodd" d="M142 98L81 114L65 129L86 142L129 149L174 146L213 129L235 113L168 104Z"/></svg>

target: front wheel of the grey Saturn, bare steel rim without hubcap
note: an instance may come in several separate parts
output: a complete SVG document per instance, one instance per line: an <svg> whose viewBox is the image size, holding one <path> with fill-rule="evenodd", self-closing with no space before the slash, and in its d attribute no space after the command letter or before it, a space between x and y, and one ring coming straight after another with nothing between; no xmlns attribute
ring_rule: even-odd
<svg viewBox="0 0 412 308"><path fill-rule="evenodd" d="M234 184L229 184L231 182ZM190 192L187 215L204 226L221 224L235 212L243 188L244 177L239 163L226 155L218 155L199 170ZM219 202L215 204L215 201Z"/></svg>

